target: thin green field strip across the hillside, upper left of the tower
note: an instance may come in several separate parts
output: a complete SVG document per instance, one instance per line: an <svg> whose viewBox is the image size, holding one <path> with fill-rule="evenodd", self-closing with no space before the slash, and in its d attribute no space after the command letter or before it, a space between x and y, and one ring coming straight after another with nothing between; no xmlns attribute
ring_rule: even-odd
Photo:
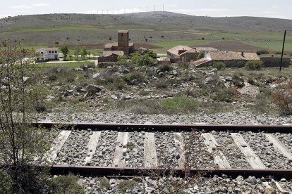
<svg viewBox="0 0 292 194"><path fill-rule="evenodd" d="M56 32L56 31L63 31L63 30L102 30L102 28L97 28L97 27L44 27L44 28L23 29L23 30L0 32L0 34L11 34L11 33L22 33L22 32Z"/></svg>

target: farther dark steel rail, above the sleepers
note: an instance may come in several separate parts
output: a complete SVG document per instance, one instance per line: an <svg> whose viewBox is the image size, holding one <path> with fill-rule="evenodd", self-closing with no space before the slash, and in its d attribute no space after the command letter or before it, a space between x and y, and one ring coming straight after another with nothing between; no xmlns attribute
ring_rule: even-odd
<svg viewBox="0 0 292 194"><path fill-rule="evenodd" d="M291 133L292 125L266 125L266 124L105 124L105 123L56 123L37 122L32 125L51 128L53 126L61 129L92 129L95 131L264 131L267 133Z"/></svg>

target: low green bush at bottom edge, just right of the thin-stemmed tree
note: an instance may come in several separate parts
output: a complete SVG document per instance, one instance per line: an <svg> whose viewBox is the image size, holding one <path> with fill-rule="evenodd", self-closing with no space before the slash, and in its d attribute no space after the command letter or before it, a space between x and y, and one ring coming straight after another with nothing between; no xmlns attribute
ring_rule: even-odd
<svg viewBox="0 0 292 194"><path fill-rule="evenodd" d="M51 190L56 194L83 194L85 190L78 185L78 177L72 174L67 176L58 176L51 181Z"/></svg>

